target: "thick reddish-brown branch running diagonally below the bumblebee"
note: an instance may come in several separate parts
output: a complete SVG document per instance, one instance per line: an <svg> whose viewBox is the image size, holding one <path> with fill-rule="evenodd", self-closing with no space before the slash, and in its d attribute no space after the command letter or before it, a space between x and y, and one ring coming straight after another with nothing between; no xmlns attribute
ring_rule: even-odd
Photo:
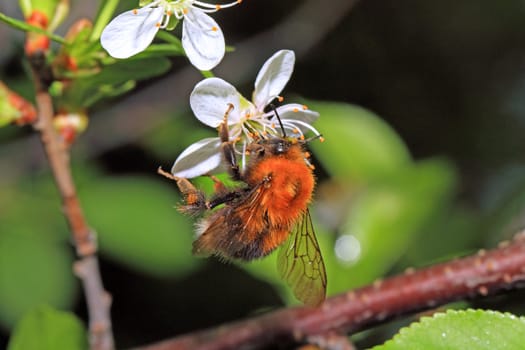
<svg viewBox="0 0 525 350"><path fill-rule="evenodd" d="M362 330L455 300L486 296L525 282L525 232L497 249L404 274L326 300L169 339L136 350L257 349L330 333Z"/></svg>

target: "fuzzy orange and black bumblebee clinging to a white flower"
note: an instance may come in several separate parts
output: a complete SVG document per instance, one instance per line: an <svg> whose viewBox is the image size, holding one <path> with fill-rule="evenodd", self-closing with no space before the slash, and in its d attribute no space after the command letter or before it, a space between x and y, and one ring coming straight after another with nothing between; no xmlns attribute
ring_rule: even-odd
<svg viewBox="0 0 525 350"><path fill-rule="evenodd" d="M306 141L286 137L284 128L282 137L259 133L246 147L248 159L241 171L228 135L231 108L219 126L219 137L223 160L239 187L229 189L211 176L215 193L207 198L187 179L159 169L177 181L184 197L179 210L202 216L196 224L193 253L250 261L281 247L282 278L299 300L319 305L325 298L326 271L308 211L315 177L304 149Z"/></svg>

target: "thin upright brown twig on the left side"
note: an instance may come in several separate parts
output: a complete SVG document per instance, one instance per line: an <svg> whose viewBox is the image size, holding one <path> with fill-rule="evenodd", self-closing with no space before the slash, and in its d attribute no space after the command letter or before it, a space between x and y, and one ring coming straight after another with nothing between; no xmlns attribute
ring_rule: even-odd
<svg viewBox="0 0 525 350"><path fill-rule="evenodd" d="M76 194L75 183L69 164L69 151L66 143L53 126L53 102L42 79L41 69L30 57L36 86L36 107L38 119L34 128L40 132L47 159L62 198L63 210L69 224L79 260L74 271L82 281L86 294L90 344L93 350L114 348L110 319L110 297L102 286L102 279L96 256L95 233L89 228Z"/></svg>

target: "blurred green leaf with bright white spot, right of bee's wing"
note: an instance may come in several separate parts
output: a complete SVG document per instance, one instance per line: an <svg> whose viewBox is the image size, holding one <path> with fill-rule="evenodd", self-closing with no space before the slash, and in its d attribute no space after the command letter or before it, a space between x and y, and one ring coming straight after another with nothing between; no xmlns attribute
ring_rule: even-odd
<svg viewBox="0 0 525 350"><path fill-rule="evenodd" d="M432 160L400 169L356 194L339 229L340 239L347 241L338 243L350 244L346 247L350 255L325 254L329 291L370 283L390 270L448 206L455 181L448 163Z"/></svg>

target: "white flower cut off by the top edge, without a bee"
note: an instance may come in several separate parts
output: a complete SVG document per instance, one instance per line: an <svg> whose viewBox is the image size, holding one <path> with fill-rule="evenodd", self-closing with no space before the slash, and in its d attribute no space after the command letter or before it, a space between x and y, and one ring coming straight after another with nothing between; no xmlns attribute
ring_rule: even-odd
<svg viewBox="0 0 525 350"><path fill-rule="evenodd" d="M184 19L182 47L190 62L200 70L210 70L222 60L225 51L221 28L206 13L241 3L237 0L224 5L197 0L154 0L140 9L126 11L104 28L100 37L102 47L115 58L128 58L144 51L170 18Z"/></svg>

